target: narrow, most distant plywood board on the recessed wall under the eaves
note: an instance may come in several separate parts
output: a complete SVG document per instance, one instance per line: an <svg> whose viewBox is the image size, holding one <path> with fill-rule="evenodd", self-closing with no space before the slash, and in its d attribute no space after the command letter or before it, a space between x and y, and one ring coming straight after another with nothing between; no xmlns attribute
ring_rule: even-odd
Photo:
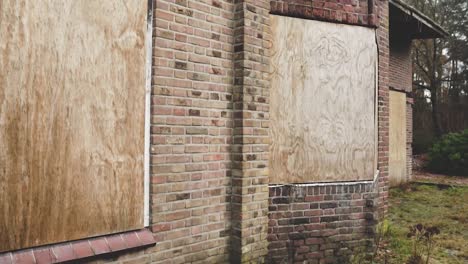
<svg viewBox="0 0 468 264"><path fill-rule="evenodd" d="M391 185L406 180L406 94L390 91L388 174Z"/></svg>

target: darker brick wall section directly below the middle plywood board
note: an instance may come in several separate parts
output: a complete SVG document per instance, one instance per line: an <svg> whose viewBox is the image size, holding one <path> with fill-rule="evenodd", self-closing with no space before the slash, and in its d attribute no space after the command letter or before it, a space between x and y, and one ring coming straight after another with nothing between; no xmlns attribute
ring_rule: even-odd
<svg viewBox="0 0 468 264"><path fill-rule="evenodd" d="M375 183L270 187L269 263L347 263L372 246Z"/></svg>

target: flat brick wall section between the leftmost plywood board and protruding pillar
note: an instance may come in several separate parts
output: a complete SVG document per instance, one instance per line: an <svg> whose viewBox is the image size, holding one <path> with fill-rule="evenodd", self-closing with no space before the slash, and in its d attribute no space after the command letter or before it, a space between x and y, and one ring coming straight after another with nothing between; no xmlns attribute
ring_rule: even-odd
<svg viewBox="0 0 468 264"><path fill-rule="evenodd" d="M151 116L153 263L229 257L234 4L157 0Z"/></svg>

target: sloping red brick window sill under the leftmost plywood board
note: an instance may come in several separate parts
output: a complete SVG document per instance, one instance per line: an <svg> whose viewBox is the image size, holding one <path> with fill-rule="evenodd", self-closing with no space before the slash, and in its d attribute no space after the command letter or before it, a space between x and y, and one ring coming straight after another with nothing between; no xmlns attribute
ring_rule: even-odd
<svg viewBox="0 0 468 264"><path fill-rule="evenodd" d="M148 229L0 253L0 264L42 264L79 260L156 244Z"/></svg>

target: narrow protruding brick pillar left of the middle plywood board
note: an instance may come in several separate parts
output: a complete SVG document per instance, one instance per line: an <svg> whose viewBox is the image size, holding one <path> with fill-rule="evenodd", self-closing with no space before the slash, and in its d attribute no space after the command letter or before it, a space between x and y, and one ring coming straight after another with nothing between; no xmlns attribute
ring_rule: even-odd
<svg viewBox="0 0 468 264"><path fill-rule="evenodd" d="M231 263L263 263L268 223L269 1L236 1Z"/></svg>

